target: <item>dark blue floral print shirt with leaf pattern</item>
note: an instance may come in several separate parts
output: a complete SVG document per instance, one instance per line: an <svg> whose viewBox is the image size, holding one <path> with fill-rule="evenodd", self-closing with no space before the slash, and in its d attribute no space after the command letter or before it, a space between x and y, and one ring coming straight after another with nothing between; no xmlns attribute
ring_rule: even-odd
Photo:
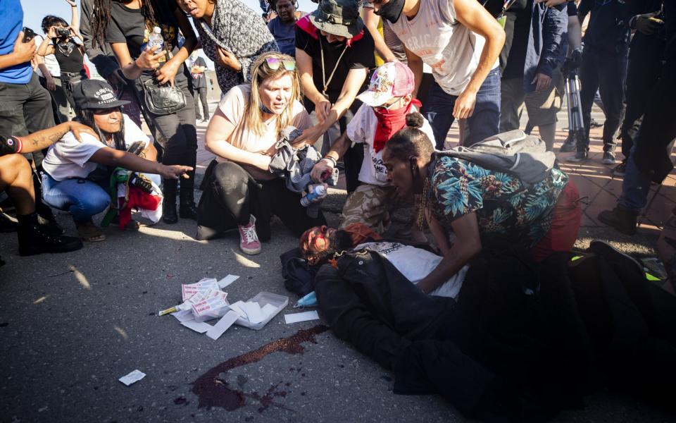
<svg viewBox="0 0 676 423"><path fill-rule="evenodd" d="M517 176L439 155L430 183L432 214L446 231L451 231L455 219L476 212L482 236L506 235L531 248L549 231L568 175L553 168L549 176L527 187Z"/></svg>

